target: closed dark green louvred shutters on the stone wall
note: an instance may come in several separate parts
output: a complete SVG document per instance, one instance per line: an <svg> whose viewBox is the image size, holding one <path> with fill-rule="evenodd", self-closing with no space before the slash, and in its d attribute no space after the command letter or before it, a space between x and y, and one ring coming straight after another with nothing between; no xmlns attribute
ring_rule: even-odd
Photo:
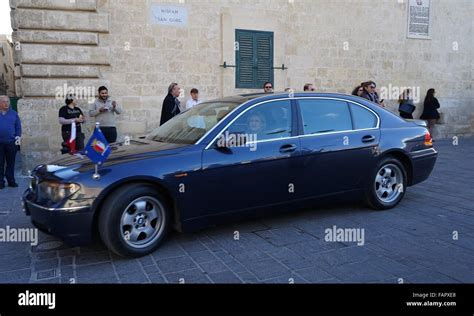
<svg viewBox="0 0 474 316"><path fill-rule="evenodd" d="M236 88L261 89L273 83L273 32L235 30Z"/></svg>

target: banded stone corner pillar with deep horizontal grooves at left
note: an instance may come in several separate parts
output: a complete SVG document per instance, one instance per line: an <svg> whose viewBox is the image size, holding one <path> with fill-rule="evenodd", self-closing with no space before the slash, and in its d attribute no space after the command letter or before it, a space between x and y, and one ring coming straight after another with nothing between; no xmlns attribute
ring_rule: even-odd
<svg viewBox="0 0 474 316"><path fill-rule="evenodd" d="M75 93L87 112L97 88L108 85L101 70L110 65L110 51L100 36L110 22L106 0L10 0L10 7L26 172L59 155L65 94ZM84 128L86 138L90 130Z"/></svg>

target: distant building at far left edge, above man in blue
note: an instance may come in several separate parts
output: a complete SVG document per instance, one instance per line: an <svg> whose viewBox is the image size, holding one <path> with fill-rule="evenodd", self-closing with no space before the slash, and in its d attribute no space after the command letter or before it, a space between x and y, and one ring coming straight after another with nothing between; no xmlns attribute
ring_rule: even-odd
<svg viewBox="0 0 474 316"><path fill-rule="evenodd" d="M15 96L13 43L6 35L0 35L0 95Z"/></svg>

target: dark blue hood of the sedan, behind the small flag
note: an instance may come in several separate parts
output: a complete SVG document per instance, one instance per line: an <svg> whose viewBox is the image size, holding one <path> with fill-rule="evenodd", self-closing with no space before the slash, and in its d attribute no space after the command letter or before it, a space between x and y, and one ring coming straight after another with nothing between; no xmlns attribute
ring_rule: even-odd
<svg viewBox="0 0 474 316"><path fill-rule="evenodd" d="M111 166L127 161L142 160L164 155L175 155L188 144L171 144L148 141L130 141L130 145L123 143L112 144L112 152L107 160L102 164L103 167ZM85 155L65 154L47 165L38 166L36 171L39 173L55 173L61 169L74 169L74 171L85 172L94 168L94 163Z"/></svg>

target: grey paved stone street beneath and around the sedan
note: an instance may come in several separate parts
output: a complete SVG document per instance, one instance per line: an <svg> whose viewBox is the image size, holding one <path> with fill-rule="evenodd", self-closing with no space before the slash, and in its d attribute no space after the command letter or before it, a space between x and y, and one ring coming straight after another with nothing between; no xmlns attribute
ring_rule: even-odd
<svg viewBox="0 0 474 316"><path fill-rule="evenodd" d="M36 247L0 243L0 282L473 283L474 139L435 144L430 179L389 211L338 205L174 233L152 255L131 260L40 233ZM18 180L20 188L0 191L0 228L32 227L20 206L27 179ZM364 245L325 241L334 225L364 229Z"/></svg>

